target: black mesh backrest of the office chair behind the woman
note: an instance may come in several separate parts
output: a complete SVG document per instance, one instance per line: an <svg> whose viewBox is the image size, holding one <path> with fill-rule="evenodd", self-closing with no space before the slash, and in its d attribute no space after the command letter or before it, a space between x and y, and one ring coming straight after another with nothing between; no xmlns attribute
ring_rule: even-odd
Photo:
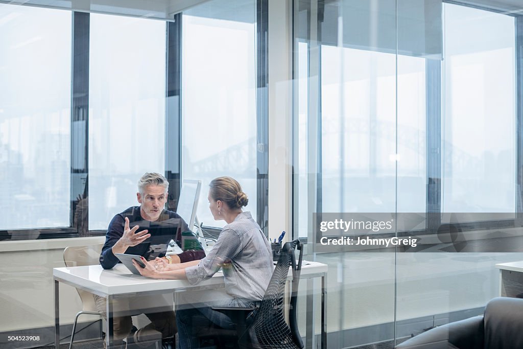
<svg viewBox="0 0 523 349"><path fill-rule="evenodd" d="M294 256L295 249L300 251L298 263ZM302 256L303 244L298 239L283 245L258 314L247 329L254 348L303 348L296 320ZM292 266L292 294L289 307L291 327L285 322L283 313L285 284L290 266Z"/></svg>

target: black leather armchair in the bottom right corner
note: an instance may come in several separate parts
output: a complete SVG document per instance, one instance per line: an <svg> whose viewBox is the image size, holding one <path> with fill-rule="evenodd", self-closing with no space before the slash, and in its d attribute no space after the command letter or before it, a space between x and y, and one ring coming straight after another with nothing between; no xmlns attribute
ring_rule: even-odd
<svg viewBox="0 0 523 349"><path fill-rule="evenodd" d="M522 349L523 299L498 297L483 316L451 322L418 334L397 349Z"/></svg>

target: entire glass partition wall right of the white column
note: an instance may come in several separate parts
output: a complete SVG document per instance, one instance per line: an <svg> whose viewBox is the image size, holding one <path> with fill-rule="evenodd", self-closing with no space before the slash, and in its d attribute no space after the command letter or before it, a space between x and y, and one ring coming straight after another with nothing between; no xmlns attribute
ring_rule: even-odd
<svg viewBox="0 0 523 349"><path fill-rule="evenodd" d="M481 314L523 258L520 19L488 3L294 2L293 229L329 266L328 347ZM318 248L321 212L405 213L390 236L420 244Z"/></svg>

